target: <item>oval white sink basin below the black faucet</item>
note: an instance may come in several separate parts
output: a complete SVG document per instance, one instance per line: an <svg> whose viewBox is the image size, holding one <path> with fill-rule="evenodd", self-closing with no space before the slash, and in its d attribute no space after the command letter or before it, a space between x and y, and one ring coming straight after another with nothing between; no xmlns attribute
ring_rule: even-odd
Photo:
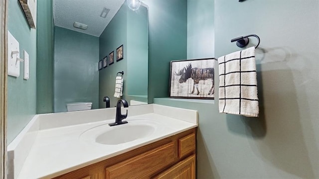
<svg viewBox="0 0 319 179"><path fill-rule="evenodd" d="M91 128L80 135L80 139L104 145L118 145L143 139L154 134L160 123L152 120L128 120L129 123L109 126L107 124Z"/></svg>

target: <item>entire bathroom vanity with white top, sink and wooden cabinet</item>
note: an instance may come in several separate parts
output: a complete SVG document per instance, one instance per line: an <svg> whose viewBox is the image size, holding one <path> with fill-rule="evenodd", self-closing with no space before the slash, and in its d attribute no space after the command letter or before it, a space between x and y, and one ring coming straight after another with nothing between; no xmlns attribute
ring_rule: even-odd
<svg viewBox="0 0 319 179"><path fill-rule="evenodd" d="M197 111L130 106L36 115L8 146L9 179L194 179Z"/></svg>

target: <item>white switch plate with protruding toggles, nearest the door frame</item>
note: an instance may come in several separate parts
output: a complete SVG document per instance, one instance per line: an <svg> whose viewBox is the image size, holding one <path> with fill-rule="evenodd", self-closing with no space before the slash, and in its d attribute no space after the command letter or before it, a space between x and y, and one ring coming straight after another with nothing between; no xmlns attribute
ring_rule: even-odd
<svg viewBox="0 0 319 179"><path fill-rule="evenodd" d="M20 53L13 54L12 51L20 51L19 50L19 42L12 36L12 34L8 31L8 75L13 77L20 76L20 61L16 58L20 58Z"/></svg>

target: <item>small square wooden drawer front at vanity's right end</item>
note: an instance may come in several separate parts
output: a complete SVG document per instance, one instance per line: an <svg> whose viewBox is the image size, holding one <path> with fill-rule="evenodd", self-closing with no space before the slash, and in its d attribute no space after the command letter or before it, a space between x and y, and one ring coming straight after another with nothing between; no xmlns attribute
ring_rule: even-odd
<svg viewBox="0 0 319 179"><path fill-rule="evenodd" d="M182 158L189 153L195 151L195 133L189 134L185 137L178 139L178 156Z"/></svg>

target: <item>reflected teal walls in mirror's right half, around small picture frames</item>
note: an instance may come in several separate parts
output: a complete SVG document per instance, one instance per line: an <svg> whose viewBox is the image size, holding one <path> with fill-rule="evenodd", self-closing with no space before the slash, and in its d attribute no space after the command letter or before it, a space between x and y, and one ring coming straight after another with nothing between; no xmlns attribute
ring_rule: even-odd
<svg viewBox="0 0 319 179"><path fill-rule="evenodd" d="M147 102L148 35L148 9L141 6L138 11L132 11L126 4L122 5L100 36L100 58L115 51L113 62L123 60L100 73L99 99L109 96L111 106L116 105L119 99L113 97L116 74L124 71L123 98ZM105 107L102 100L99 107Z"/></svg>

